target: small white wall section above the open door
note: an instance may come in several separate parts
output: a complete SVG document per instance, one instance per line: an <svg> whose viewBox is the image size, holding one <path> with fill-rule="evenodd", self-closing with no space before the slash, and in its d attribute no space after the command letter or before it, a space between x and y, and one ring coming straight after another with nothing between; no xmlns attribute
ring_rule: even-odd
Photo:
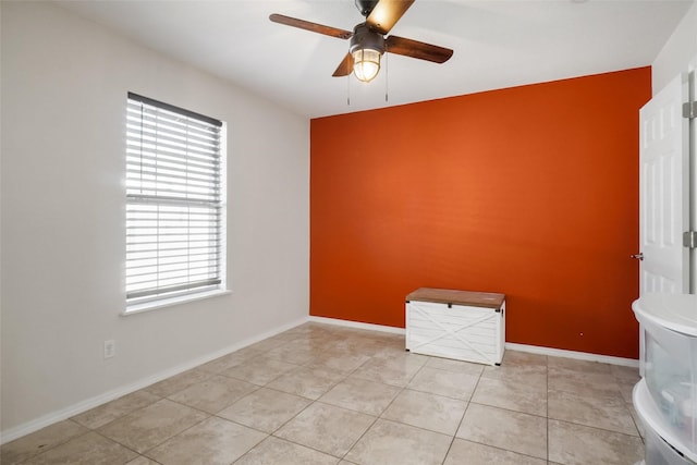
<svg viewBox="0 0 697 465"><path fill-rule="evenodd" d="M651 64L653 95L658 94L673 77L696 66L690 60L697 58L697 1L677 25L661 52Z"/></svg>

